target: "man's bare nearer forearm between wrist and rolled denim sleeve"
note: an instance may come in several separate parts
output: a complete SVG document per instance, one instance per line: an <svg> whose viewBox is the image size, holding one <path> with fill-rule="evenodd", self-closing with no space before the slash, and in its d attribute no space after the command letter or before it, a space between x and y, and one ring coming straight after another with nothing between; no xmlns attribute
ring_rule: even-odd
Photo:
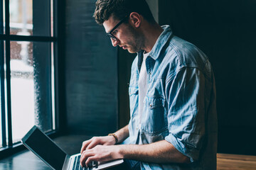
<svg viewBox="0 0 256 170"><path fill-rule="evenodd" d="M134 159L154 163L188 163L189 158L166 140L149 145L119 145L119 154L123 159Z"/></svg>

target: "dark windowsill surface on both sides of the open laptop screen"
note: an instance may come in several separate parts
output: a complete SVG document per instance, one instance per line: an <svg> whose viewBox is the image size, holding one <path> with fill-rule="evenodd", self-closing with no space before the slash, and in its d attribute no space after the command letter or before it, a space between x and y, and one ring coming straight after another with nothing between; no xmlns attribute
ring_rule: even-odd
<svg viewBox="0 0 256 170"><path fill-rule="evenodd" d="M82 142L90 137L85 135L65 135L56 137L53 141L67 154L80 152ZM5 170L45 170L50 168L28 149L0 160L0 169Z"/></svg>

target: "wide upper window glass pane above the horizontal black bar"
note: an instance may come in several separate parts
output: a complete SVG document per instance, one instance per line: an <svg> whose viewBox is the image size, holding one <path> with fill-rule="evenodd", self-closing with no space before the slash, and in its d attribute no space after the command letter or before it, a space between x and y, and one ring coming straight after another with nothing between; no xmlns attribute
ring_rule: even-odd
<svg viewBox="0 0 256 170"><path fill-rule="evenodd" d="M10 0L10 33L50 35L50 0Z"/></svg>

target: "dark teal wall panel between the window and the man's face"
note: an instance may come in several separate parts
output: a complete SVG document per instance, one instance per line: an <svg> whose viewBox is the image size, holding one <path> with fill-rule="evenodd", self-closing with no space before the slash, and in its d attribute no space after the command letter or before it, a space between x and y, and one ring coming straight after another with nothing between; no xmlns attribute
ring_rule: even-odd
<svg viewBox="0 0 256 170"><path fill-rule="evenodd" d="M117 130L117 48L94 10L93 0L66 1L67 125L72 133L106 135Z"/></svg>

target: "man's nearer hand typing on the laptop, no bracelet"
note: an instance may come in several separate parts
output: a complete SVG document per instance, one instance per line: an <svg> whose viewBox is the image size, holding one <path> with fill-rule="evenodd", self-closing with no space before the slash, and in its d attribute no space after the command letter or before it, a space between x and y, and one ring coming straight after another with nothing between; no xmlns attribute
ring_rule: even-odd
<svg viewBox="0 0 256 170"><path fill-rule="evenodd" d="M114 159L122 159L119 145L97 145L92 149L85 149L80 158L81 166L88 166L90 162L107 162Z"/></svg>

